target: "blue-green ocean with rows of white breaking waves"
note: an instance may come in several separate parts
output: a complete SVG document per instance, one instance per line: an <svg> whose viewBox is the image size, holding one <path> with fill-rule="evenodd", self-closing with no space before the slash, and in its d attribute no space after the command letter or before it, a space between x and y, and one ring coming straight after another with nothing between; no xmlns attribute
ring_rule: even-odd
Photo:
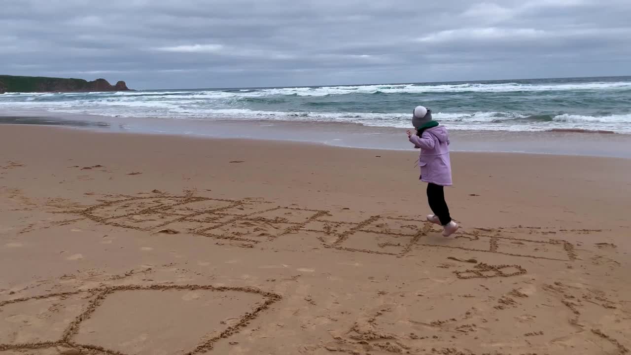
<svg viewBox="0 0 631 355"><path fill-rule="evenodd" d="M413 107L457 131L631 134L631 76L328 87L4 93L0 111L170 121L291 121L410 128Z"/></svg>

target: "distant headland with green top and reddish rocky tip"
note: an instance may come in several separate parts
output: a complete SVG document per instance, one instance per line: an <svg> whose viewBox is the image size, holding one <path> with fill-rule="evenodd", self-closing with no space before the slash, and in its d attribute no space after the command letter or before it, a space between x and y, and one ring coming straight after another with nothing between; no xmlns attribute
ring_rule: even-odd
<svg viewBox="0 0 631 355"><path fill-rule="evenodd" d="M47 78L45 76L0 75L0 93L4 92L78 92L78 91L127 91L125 81L110 85L105 79Z"/></svg>

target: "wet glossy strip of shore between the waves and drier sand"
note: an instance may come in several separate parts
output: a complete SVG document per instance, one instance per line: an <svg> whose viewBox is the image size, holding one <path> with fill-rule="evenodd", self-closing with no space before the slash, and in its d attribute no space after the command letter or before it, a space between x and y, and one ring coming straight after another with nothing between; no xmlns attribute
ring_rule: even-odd
<svg viewBox="0 0 631 355"><path fill-rule="evenodd" d="M8 121L9 119L11 121ZM62 126L86 131L148 135L293 141L346 148L409 149L409 144L403 137L404 129L359 126L354 123L129 119L74 114L43 116L42 112L27 111L20 114L0 114L0 124ZM631 135L567 129L541 132L451 130L451 136L453 152L531 153L631 159L631 151L627 148L631 145Z"/></svg>

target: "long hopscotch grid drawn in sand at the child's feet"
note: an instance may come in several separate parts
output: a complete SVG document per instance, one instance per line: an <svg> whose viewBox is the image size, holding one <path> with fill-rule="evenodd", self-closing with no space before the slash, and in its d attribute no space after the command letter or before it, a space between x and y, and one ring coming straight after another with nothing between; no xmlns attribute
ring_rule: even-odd
<svg viewBox="0 0 631 355"><path fill-rule="evenodd" d="M316 238L325 248L399 257L408 255L418 247L439 247L555 261L574 261L577 258L574 245L567 241L512 238L500 234L504 229L475 228L472 229L473 232L461 231L453 239L456 242L442 243L444 239L436 239L437 241L427 239L430 234L436 232L432 224L428 222L420 224L418 220L404 217L374 215L358 222L347 222L346 220L331 220L330 217L333 215L327 210L269 207L266 206L269 202L249 199L227 200L196 197L190 194L172 196L165 193L155 193L153 196L125 195L123 197L121 200L103 202L84 210L73 209L65 212L79 214L82 218L101 224L148 232L178 223L190 224L196 226L187 228L190 234L250 243L247 247L264 241L273 241L295 232L310 232L319 234ZM202 206L196 206L196 204ZM130 208L131 211L129 211ZM319 224L319 227L312 226L314 223ZM403 225L404 223L408 225ZM420 227L418 227L419 224ZM333 231L337 227L343 231ZM529 234L547 236L552 233L529 229ZM362 238L362 236L369 238ZM367 244L375 244L376 248L364 248L363 245L357 245L365 244L364 241ZM469 242L483 243L486 246L482 248L475 245L469 246L467 245ZM508 243L521 243L524 246L519 248ZM518 252L512 252L511 248L517 248ZM532 250L531 253L528 253L529 248ZM539 252L540 248L544 250L552 248L552 250L548 255L542 255ZM519 251L522 250L527 253L520 253Z"/></svg>

